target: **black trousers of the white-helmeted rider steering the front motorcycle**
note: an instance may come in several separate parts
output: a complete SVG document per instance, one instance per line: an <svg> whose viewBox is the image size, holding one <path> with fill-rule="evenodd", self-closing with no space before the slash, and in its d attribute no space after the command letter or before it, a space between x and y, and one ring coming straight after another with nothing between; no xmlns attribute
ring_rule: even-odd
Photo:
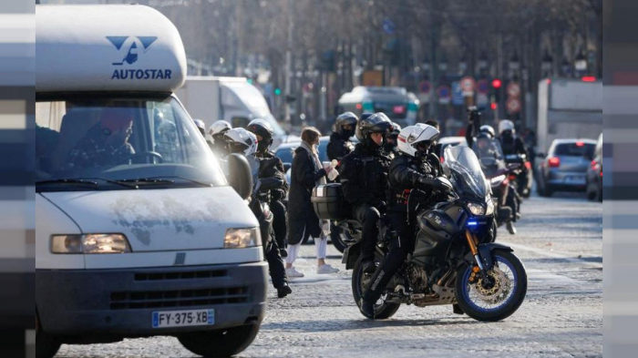
<svg viewBox="0 0 638 358"><path fill-rule="evenodd" d="M386 289L387 284L392 280L403 263L407 254L414 250L413 225L407 224L405 212L388 212L387 221L390 225L392 240L389 244L389 251L376 269L370 280L370 285L365 288L364 301L376 302Z"/></svg>

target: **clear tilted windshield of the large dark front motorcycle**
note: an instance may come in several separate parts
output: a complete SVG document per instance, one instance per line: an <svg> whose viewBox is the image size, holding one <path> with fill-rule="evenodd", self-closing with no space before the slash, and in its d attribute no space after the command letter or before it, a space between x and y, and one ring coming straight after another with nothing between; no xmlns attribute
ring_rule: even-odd
<svg viewBox="0 0 638 358"><path fill-rule="evenodd" d="M468 146L448 146L445 149L445 163L452 173L452 184L461 196L484 199L489 188L477 155Z"/></svg>

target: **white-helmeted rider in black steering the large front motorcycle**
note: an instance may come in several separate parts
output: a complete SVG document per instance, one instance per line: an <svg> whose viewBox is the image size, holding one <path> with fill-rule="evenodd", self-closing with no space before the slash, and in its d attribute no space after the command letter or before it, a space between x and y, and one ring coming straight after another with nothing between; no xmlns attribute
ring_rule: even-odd
<svg viewBox="0 0 638 358"><path fill-rule="evenodd" d="M387 283L406 261L407 254L414 249L414 208L412 203L424 202L430 198L433 189L448 191L443 181L437 180L437 169L427 160L428 149L437 140L439 132L428 125L403 128L398 137L399 155L392 160L387 188L387 220L392 241L386 258L376 270L371 284L365 288L364 297L359 302L365 317L374 319L374 304L379 299ZM412 191L421 189L420 191ZM408 200L412 195L425 195L423 199ZM407 208L408 203L410 208ZM409 209L409 210L408 210ZM408 214L410 212L410 214Z"/></svg>

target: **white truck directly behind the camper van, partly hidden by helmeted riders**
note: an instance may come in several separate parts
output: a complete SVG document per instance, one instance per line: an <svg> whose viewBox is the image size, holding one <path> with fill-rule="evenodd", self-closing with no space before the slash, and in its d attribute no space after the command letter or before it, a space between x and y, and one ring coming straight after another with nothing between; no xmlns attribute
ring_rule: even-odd
<svg viewBox="0 0 638 358"><path fill-rule="evenodd" d="M246 128L252 119L262 118L273 127L273 148L289 140L262 93L245 77L189 76L175 94L190 116L203 120L206 128L219 119L231 123L232 128Z"/></svg>

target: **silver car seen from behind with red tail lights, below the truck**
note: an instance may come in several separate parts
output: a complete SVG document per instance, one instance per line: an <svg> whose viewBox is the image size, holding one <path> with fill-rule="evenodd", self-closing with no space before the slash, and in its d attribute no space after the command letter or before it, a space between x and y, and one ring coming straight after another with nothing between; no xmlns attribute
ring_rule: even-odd
<svg viewBox="0 0 638 358"><path fill-rule="evenodd" d="M585 191L596 141L554 139L537 171L539 195L551 197L555 191ZM541 157L544 157L540 153Z"/></svg>

